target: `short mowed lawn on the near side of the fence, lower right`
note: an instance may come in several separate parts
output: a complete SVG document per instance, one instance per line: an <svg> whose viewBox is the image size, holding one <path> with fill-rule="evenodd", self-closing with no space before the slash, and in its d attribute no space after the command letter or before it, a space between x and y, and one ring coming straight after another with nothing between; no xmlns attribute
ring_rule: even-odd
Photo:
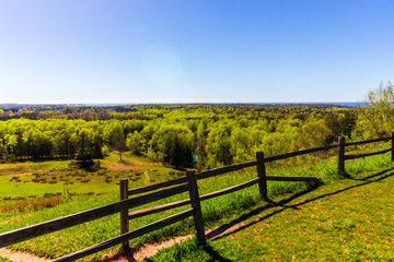
<svg viewBox="0 0 394 262"><path fill-rule="evenodd" d="M394 261L394 168L273 202L149 261Z"/></svg>

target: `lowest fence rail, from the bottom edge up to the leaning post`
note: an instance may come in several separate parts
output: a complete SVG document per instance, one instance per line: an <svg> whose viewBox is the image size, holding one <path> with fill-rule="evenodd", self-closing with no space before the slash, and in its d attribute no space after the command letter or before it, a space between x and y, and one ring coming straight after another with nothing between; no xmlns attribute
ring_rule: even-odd
<svg viewBox="0 0 394 262"><path fill-rule="evenodd" d="M140 227L140 228L138 228L136 230L132 230L132 231L129 231L129 233L127 233L125 235L112 238L112 239L106 240L104 242L94 245L94 246L92 246L90 248L80 250L78 252L74 252L74 253L58 258L58 259L55 259L55 260L53 260L53 262L76 261L78 259L84 258L84 257L86 257L89 254L96 253L96 252L99 252L101 250L111 248L111 247L113 247L115 245L121 243L121 242L130 240L132 238L143 236L143 235L146 235L146 234L148 234L150 231L154 231L154 230L158 230L160 228L170 226L170 225L172 225L172 224L174 224L176 222L183 221L183 219L185 219L185 218L187 218L187 217L189 217L192 215L193 215L193 209L181 212L181 213L172 215L172 216L169 216L166 218L163 218L161 221L154 222L154 223L149 224L147 226Z"/></svg>

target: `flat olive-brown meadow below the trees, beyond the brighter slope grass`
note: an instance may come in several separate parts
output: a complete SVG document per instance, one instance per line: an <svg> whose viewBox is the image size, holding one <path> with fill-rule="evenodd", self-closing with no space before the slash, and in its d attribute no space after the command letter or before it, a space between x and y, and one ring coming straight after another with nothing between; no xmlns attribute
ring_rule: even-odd
<svg viewBox="0 0 394 262"><path fill-rule="evenodd" d="M0 189L0 205L13 199L28 200L46 193L113 193L118 190L120 178L128 178L129 187L138 188L173 179L179 172L146 158L126 154L124 162L119 163L115 153L101 160L103 169L95 172L69 169L70 163L71 160L51 160L1 164L0 183L7 187Z"/></svg>

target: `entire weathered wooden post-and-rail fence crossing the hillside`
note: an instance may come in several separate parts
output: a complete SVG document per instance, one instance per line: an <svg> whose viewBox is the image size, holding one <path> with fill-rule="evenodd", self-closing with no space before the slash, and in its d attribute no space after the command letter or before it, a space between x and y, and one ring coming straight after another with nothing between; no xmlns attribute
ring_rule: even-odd
<svg viewBox="0 0 394 262"><path fill-rule="evenodd" d="M360 145L360 144L368 144L368 143L376 143L376 142L383 142L383 141L392 141L392 146L382 151L375 151L375 152L369 152L369 153L362 153L362 154L352 154L352 155L345 155L345 147L350 145ZM384 154L387 152L392 152L392 160L394 160L394 132L392 132L392 135L389 138L383 139L374 139L374 140L368 140L368 141L359 141L359 142L352 142L352 143L345 143L345 138L339 138L338 144L327 145L327 146L321 146L310 150L303 150L303 151L297 151L292 153L287 153L282 155L277 156L269 156L265 157L263 152L256 153L256 160L253 162L246 162L235 165L230 165L225 167L220 167L216 169L210 169L206 171L201 171L199 174L195 174L195 171L190 170L187 171L186 177L176 178L170 181L150 184L137 189L128 189L128 180L121 179L120 180L120 201L100 206L96 209L83 211L77 214L59 217L53 221L43 222L36 225L27 226L24 228L15 229L9 233L0 234L0 248L7 247L16 242L21 242L27 239L36 238L49 233L58 231L63 228L72 227L76 225L80 225L93 219L97 219L104 216L113 215L115 213L120 213L120 236L112 238L109 240L106 240L104 242L97 243L95 246L89 247L86 249L80 250L78 252L55 259L53 261L74 261L77 259L86 257L89 254L99 252L101 250L107 249L109 247L113 247L115 245L123 243L125 248L128 247L128 240L132 238L137 238L139 236L143 236L150 231L158 230L160 228L166 227L171 224L174 224L176 222L183 221L187 217L193 216L194 217L194 224L196 229L196 236L199 243L205 243L206 237L205 237L205 229L204 229L204 223L202 223L202 212L201 212L201 205L200 202L217 198L223 194L232 193L241 189L248 188L254 184L258 184L259 192L265 200L268 200L267 194L267 181L312 181L317 182L318 179L315 177L279 177L279 176L266 176L266 168L265 163L280 160L280 159L287 159L294 156L311 154L315 152L321 151L327 151L332 148L338 147L338 171L344 172L345 171L345 160L348 159L356 159L359 157L366 157L371 155L378 155L378 154ZM210 192L204 195L199 195L198 187L197 187L197 180L199 179L206 179L210 177L215 177L221 174L241 170L243 168L253 167L256 166L257 177L230 187L225 188L219 191ZM171 187L171 188L169 188ZM167 189L163 189L167 188ZM159 190L159 191L157 191ZM130 195L134 194L141 194L147 193L150 191L154 191L148 194L138 195L135 198L129 199ZM138 210L134 212L128 212L129 209L138 207L154 201L159 201L165 198L170 198L172 195L176 195L184 192L189 192L189 198L167 204L157 205L153 207L148 207L143 210ZM151 223L149 225L146 225L143 227L140 227L138 229L135 229L132 231L129 231L129 221L154 214L158 212L163 212L166 210L175 209L183 205L190 205L190 209L183 211L181 213L177 213L175 215L165 217L161 221Z"/></svg>

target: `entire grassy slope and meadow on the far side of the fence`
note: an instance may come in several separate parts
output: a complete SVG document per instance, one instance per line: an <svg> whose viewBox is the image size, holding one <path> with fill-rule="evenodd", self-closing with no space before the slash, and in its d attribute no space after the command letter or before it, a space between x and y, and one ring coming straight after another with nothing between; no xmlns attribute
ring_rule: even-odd
<svg viewBox="0 0 394 262"><path fill-rule="evenodd" d="M379 168L391 166L389 154L352 160L347 163L346 169L348 174L344 177L337 175L335 156L325 160L312 162L312 159L308 157L300 157L297 160L299 163L312 164L291 168L268 168L267 175L315 176L321 178L326 184L324 187L331 187L332 184L336 184L338 179L343 179L346 176L356 178L361 176L360 174L371 172ZM96 172L69 170L68 164L69 160L46 163L26 162L0 165L0 179L4 182L2 184L7 184L7 187L2 187L0 190L0 209L2 210L2 212L0 212L0 233L118 201L119 192L117 183L123 177L129 178L130 188L135 188L184 176L184 172L182 171L155 163L150 163L144 158L130 156L125 158L125 163L119 163L116 154L112 154L102 160L101 166L103 169L100 169ZM200 193L204 194L244 182L255 177L255 168L250 168L210 179L199 180L198 184ZM33 181L35 178L37 178L37 180ZM49 182L55 180L57 182ZM85 180L86 182L83 182ZM301 194L306 189L309 189L309 184L300 182L268 183L268 193L271 198L282 198L283 194L290 192ZM186 198L188 198L187 193L159 201L143 207ZM188 207L184 206L160 214L137 218L130 223L130 229L138 228L186 209ZM252 215L248 214L258 214L257 211L274 211L275 209L280 207L273 204L267 205L260 200L257 186L202 202L206 228L215 228L229 223L231 224L244 216L252 217ZM283 225L287 224L285 223ZM186 219L173 226L134 239L130 241L130 245L131 248L137 249L146 242L157 242L193 231L194 227L192 219ZM118 234L119 215L113 215L14 245L12 246L12 249L27 250L40 257L57 258L113 238L118 236ZM193 246L193 243L190 245ZM185 247L188 246L189 245L186 243ZM225 249L224 247L225 246L223 246L223 249ZM221 250L220 247L215 247L215 250L216 249ZM215 250L212 249L212 252ZM109 250L93 254L86 258L85 261L103 259L119 251L119 247L114 247ZM202 250L202 252L206 251ZM225 255L227 254L224 254L224 257ZM177 257L175 255L174 258ZM253 260L253 258L246 260Z"/></svg>

